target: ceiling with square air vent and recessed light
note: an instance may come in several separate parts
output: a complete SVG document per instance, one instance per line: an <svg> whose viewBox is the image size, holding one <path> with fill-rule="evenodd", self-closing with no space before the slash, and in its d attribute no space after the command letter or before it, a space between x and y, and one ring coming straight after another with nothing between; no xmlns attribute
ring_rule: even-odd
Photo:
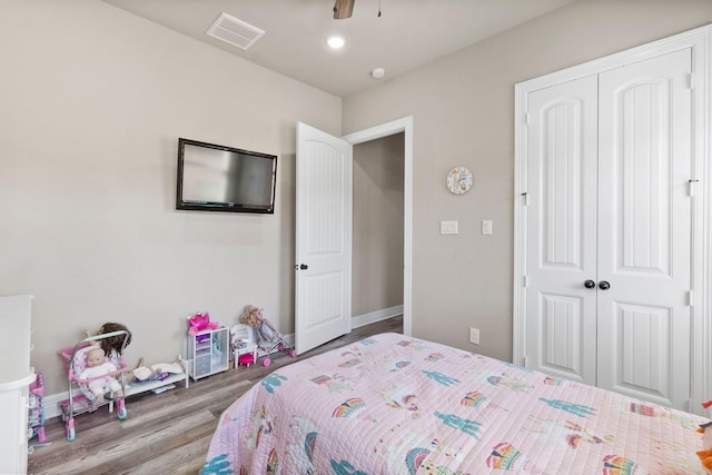
<svg viewBox="0 0 712 475"><path fill-rule="evenodd" d="M577 0L103 0L337 97L348 97ZM380 9L382 16L378 17ZM266 31L245 51L205 34L221 12ZM340 51L326 39L346 39ZM374 79L370 71L384 68Z"/></svg>

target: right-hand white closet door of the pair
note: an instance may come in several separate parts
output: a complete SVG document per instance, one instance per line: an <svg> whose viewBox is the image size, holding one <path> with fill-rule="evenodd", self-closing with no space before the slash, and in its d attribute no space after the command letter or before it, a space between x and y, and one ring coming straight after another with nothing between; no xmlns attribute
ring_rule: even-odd
<svg viewBox="0 0 712 475"><path fill-rule="evenodd" d="M690 49L600 75L599 386L686 409Z"/></svg>

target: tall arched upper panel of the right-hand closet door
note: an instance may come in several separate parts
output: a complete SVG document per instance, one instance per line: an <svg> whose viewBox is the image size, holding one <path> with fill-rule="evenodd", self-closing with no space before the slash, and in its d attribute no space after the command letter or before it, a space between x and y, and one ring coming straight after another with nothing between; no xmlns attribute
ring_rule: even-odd
<svg viewBox="0 0 712 475"><path fill-rule="evenodd" d="M621 227L614 273L670 275L671 81L633 83L615 97L620 147L617 170Z"/></svg>

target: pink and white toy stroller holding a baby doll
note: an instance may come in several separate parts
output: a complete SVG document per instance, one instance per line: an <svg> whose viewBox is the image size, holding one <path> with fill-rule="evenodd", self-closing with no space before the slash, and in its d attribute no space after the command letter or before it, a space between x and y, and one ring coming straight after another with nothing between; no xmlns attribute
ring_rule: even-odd
<svg viewBox="0 0 712 475"><path fill-rule="evenodd" d="M97 348L98 342L112 337L122 337L120 349L111 350L106 355L107 362L112 363L117 369L101 376L81 379L80 375L87 368L87 352ZM78 342L73 347L59 350L59 355L62 357L62 363L65 364L65 369L67 370L69 380L69 399L60 403L62 420L65 420L65 434L68 442L72 442L75 439L75 415L93 412L100 405L96 403L96 396L89 390L88 384L92 380L115 377L120 382L121 395L115 398L113 394L110 394L109 397L107 397L109 412L113 410L113 404L116 403L118 418L122 420L128 415L123 399L126 397L123 372L128 369L128 366L123 360L123 349L129 340L129 331L117 330L85 338L81 342Z"/></svg>

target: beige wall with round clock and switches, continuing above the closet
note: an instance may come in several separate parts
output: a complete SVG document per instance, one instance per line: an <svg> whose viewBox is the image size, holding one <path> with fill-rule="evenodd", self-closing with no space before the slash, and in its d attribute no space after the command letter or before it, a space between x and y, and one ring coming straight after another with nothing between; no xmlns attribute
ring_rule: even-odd
<svg viewBox="0 0 712 475"><path fill-rule="evenodd" d="M414 336L512 358L514 85L711 21L710 0L580 0L345 100L345 133L414 119ZM462 196L456 165L475 176Z"/></svg>

